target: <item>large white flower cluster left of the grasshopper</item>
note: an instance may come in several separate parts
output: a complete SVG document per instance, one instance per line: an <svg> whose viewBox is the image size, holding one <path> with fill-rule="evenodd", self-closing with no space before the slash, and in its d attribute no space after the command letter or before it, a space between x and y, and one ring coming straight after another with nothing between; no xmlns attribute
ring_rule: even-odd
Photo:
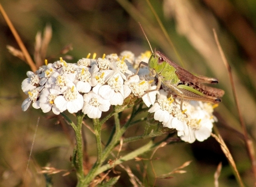
<svg viewBox="0 0 256 187"><path fill-rule="evenodd" d="M37 72L28 71L28 78L22 82L22 90L28 95L22 103L23 111L33 102L34 108L41 108L45 113L50 110L54 114L65 110L76 113L82 109L89 118L100 118L110 105L122 105L130 93L140 97L144 91L155 88L154 81L148 78L140 80L138 75L128 80L135 72L132 63L142 55L135 58L131 52L124 51L120 57L104 54L102 58L95 59L95 56L90 59L89 54L74 64L62 58L53 64L46 61L46 65ZM140 73L142 77L147 77L146 74L148 71ZM156 92L143 96L148 107L154 104L155 99Z"/></svg>

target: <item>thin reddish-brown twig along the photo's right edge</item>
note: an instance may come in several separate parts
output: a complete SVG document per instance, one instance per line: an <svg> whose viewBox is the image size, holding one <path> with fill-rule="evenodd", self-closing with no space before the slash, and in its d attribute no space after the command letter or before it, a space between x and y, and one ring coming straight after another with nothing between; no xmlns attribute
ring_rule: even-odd
<svg viewBox="0 0 256 187"><path fill-rule="evenodd" d="M229 63L227 62L227 59L226 59L225 54L222 50L221 44L219 43L219 39L218 39L218 36L217 36L217 33L216 33L215 29L213 29L213 32L214 32L215 41L217 43L219 52L221 54L222 61L225 64L225 66L226 66L226 68L229 72L229 79L230 79L231 86L232 86L232 91L233 91L234 100L235 100L237 111L238 111L240 124L242 126L242 131L243 131L243 134L244 134L246 149L247 149L248 155L251 159L252 170L253 170L254 178L256 179L255 152L254 152L254 149L253 149L252 141L248 137L248 133L247 133L247 130L246 130L244 119L242 118L242 113L241 113L241 110L240 110L240 107L239 107L238 98L237 98L237 94L236 94L236 89L235 89L235 85L234 85L234 79L233 79L233 75L232 75L232 72L231 72L231 67L230 67Z"/></svg>

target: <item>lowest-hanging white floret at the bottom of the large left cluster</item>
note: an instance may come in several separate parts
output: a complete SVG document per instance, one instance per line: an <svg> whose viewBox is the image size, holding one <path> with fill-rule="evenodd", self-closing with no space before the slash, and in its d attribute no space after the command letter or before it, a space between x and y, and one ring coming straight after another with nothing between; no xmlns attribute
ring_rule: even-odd
<svg viewBox="0 0 256 187"><path fill-rule="evenodd" d="M101 113L108 111L110 107L109 100L102 98L93 91L84 94L83 100L82 112L87 114L89 118L100 118Z"/></svg>

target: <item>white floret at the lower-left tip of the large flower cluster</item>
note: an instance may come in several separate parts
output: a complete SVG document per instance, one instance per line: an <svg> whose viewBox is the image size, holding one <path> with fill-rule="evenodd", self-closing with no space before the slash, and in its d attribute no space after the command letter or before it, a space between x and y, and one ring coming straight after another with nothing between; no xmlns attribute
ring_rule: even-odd
<svg viewBox="0 0 256 187"><path fill-rule="evenodd" d="M38 109L40 108L39 106L39 101L38 101L38 98L40 96L40 91L44 88L44 86L40 86L40 87L37 87L35 89L32 89L30 91L27 92L27 94L29 95L29 97L27 99L25 99L21 105L21 108L23 111L26 111L28 108L29 108L29 105L31 103L31 101L33 101L33 104L32 106L35 108L35 109Z"/></svg>

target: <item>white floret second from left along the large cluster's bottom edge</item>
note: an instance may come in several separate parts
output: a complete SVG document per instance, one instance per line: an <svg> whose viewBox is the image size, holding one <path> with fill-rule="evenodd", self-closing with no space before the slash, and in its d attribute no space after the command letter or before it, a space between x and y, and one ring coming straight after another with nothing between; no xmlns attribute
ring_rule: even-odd
<svg viewBox="0 0 256 187"><path fill-rule="evenodd" d="M60 94L61 94L61 91L60 89L57 90L57 88L56 89L45 88L41 91L41 95L39 98L39 106L41 107L44 113L52 110L54 114L58 115L60 114L60 112L63 112L59 110L54 104L55 98Z"/></svg>

